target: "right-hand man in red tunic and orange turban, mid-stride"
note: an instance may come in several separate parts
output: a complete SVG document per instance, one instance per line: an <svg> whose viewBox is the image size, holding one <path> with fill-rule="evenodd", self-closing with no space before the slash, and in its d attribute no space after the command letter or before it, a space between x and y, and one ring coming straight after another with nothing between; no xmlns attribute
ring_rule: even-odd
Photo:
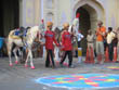
<svg viewBox="0 0 119 90"><path fill-rule="evenodd" d="M68 23L65 23L64 24L64 31L62 34L62 46L63 46L63 50L65 52L63 59L61 60L61 66L63 66L63 63L66 59L66 56L68 55L68 59L69 59L69 63L68 63L68 67L74 67L71 65L72 63L72 43L71 43L71 34L68 31L68 27L69 27L69 24Z"/></svg>

